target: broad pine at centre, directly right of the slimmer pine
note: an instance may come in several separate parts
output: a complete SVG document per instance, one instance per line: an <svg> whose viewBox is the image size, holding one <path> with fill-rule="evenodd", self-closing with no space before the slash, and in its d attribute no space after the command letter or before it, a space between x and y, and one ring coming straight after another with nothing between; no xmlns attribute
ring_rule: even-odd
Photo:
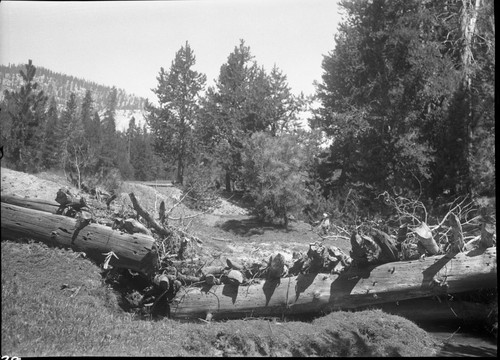
<svg viewBox="0 0 500 360"><path fill-rule="evenodd" d="M304 101L291 94L286 76L274 66L271 74L257 65L243 40L221 66L214 87L203 101L197 138L206 157L225 172L226 190L241 180L243 142L255 132L273 136L297 126Z"/></svg>

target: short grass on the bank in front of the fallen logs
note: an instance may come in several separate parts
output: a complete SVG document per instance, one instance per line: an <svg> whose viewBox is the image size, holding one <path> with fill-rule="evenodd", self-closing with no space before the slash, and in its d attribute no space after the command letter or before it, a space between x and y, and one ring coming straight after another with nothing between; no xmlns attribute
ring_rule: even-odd
<svg viewBox="0 0 500 360"><path fill-rule="evenodd" d="M429 356L435 341L380 310L312 322L144 320L119 307L100 268L71 250L2 241L2 355Z"/></svg>

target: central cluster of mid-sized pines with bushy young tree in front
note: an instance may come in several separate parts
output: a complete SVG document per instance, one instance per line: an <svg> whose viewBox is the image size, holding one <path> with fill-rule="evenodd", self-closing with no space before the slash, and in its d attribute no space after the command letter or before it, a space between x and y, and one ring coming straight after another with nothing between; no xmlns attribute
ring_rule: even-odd
<svg viewBox="0 0 500 360"><path fill-rule="evenodd" d="M298 131L303 97L291 93L277 67L268 73L259 66L243 40L206 91L206 77L194 70L195 64L186 42L170 69L160 70L159 106L146 105L155 149L190 191L203 193L200 182L206 188L223 183L226 191L239 185L255 201L257 215L283 219L286 225L305 199L299 196L306 191L304 155L309 152L300 146L309 135ZM266 159L267 146L275 151L274 161Z"/></svg>

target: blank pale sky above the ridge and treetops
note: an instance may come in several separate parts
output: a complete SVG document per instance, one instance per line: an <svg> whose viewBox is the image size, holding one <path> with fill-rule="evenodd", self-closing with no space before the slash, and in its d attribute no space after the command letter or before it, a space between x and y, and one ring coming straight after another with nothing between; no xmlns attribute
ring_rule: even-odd
<svg viewBox="0 0 500 360"><path fill-rule="evenodd" d="M294 93L308 95L339 21L337 0L2 1L0 63L32 59L156 101L160 67L186 40L212 85L244 39L258 64L276 64Z"/></svg>

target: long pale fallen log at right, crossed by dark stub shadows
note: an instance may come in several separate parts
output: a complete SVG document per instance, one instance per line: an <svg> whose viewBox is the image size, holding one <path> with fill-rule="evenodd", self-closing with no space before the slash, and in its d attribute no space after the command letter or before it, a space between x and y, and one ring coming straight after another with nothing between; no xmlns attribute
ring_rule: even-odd
<svg viewBox="0 0 500 360"><path fill-rule="evenodd" d="M178 319L282 316L459 293L497 285L496 248L351 268L341 275L306 274L249 286L187 287L172 301Z"/></svg>

